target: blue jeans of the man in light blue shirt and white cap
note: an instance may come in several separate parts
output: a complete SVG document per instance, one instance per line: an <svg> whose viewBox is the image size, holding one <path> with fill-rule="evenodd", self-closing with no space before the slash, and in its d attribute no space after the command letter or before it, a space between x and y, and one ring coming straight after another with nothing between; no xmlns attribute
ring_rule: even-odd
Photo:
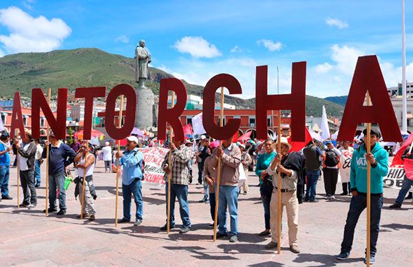
<svg viewBox="0 0 413 267"><path fill-rule="evenodd" d="M143 220L142 181L134 180L129 185L122 184L123 219L131 220L131 194L134 194L136 204L136 220Z"/></svg>

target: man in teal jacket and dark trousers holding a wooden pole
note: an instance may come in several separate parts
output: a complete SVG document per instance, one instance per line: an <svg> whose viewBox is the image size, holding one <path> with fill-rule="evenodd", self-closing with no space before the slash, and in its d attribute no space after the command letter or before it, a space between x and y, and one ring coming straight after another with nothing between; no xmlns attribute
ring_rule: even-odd
<svg viewBox="0 0 413 267"><path fill-rule="evenodd" d="M366 129L363 131L366 140ZM388 153L378 143L380 132L372 129L370 131L371 153L366 151L366 143L356 149L352 155L350 171L350 191L352 198L350 209L347 214L344 237L341 243L341 253L337 259L343 260L350 256L350 250L354 238L354 228L360 214L367 205L367 164L371 166L370 175L370 264L374 264L377 252L377 238L379 237L379 224L381 208L383 206L383 176L388 173ZM367 259L364 259L366 263Z"/></svg>

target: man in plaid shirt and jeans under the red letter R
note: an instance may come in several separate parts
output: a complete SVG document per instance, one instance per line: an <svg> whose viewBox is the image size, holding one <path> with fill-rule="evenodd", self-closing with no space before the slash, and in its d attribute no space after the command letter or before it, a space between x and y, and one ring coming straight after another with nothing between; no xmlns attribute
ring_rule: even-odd
<svg viewBox="0 0 413 267"><path fill-rule="evenodd" d="M182 219L182 228L180 233L187 233L191 230L191 221L189 220L188 204L188 181L189 169L188 162L191 160L191 148L186 147L182 141L173 140L169 143L169 152L162 162L162 169L165 171L164 180L166 181L165 192L168 197L168 175L171 175L171 212L169 217L169 228L175 227L175 199L178 198L180 206L180 216ZM169 153L172 151L172 166L169 166ZM168 198L167 198L168 201ZM168 211L167 211L168 213ZM161 231L167 230L167 224L160 228Z"/></svg>

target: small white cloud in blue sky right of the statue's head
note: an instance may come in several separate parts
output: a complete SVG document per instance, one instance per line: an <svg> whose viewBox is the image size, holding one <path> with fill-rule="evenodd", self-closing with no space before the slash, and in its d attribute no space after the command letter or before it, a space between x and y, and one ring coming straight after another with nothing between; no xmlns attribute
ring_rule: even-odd
<svg viewBox="0 0 413 267"><path fill-rule="evenodd" d="M213 58L221 56L218 48L201 36L184 36L173 45L181 53L189 53L194 58Z"/></svg>

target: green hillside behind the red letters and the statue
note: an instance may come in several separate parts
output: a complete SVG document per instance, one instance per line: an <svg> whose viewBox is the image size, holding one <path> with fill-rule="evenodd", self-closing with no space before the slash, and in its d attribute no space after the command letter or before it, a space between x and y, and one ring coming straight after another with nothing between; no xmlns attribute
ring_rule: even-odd
<svg viewBox="0 0 413 267"><path fill-rule="evenodd" d="M162 70L149 67L150 79L146 85L155 94L159 92L161 78L173 77ZM47 53L19 53L0 58L0 98L12 98L19 90L21 96L30 98L31 89L40 87L45 92L67 87L73 91L77 87L106 86L112 88L120 83L136 85L134 81L134 59L117 54L109 54L96 48L75 50L55 50ZM189 94L202 96L204 87L183 81ZM216 100L219 101L219 94ZM343 107L322 98L307 96L308 116L321 116L322 105L328 115L341 116ZM238 109L254 108L255 100L245 100L225 96L225 102Z"/></svg>

